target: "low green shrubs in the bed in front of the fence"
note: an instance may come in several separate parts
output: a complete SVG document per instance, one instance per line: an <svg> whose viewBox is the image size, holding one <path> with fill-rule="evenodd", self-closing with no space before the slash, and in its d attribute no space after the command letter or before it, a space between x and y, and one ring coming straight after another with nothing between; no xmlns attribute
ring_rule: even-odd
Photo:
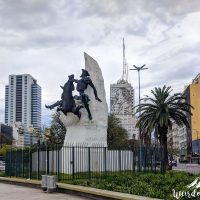
<svg viewBox="0 0 200 200"><path fill-rule="evenodd" d="M196 177L197 175L175 171L169 171L165 174L137 172L110 175L106 179L75 180L70 181L70 183L152 198L174 200L172 190L184 190L185 186L194 181Z"/></svg>

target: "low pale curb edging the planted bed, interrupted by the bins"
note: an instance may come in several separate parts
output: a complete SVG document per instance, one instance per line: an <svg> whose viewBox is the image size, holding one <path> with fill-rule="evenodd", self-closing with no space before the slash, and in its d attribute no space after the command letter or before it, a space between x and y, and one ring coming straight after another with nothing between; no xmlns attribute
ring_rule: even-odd
<svg viewBox="0 0 200 200"><path fill-rule="evenodd" d="M41 181L38 181L38 180L0 177L0 182L41 189ZM137 196L137 195L132 195L132 194L84 187L84 186L79 186L79 185L70 185L70 184L65 184L65 183L57 183L57 185L58 185L58 192L74 194L74 195L89 197L93 199L160 200L160 199Z"/></svg>

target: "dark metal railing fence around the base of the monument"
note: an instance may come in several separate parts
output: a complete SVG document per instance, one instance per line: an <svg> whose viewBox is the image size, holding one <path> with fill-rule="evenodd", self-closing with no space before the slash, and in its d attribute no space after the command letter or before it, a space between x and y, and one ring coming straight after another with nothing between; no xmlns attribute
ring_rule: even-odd
<svg viewBox="0 0 200 200"><path fill-rule="evenodd" d="M12 149L6 154L6 176L41 179L57 175L59 181L106 178L109 175L150 171L162 166L162 149L156 147L122 148L80 146L38 146ZM141 158L140 158L141 156Z"/></svg>

